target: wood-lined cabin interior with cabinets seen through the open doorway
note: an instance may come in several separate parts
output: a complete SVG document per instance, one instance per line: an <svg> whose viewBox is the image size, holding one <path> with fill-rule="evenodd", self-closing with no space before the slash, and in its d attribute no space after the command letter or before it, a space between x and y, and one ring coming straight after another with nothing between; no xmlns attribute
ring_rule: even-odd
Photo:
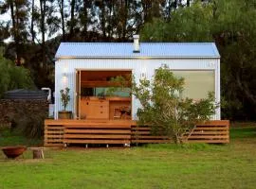
<svg viewBox="0 0 256 189"><path fill-rule="evenodd" d="M77 74L79 119L132 119L132 71L79 70ZM121 82L117 82L117 79Z"/></svg>

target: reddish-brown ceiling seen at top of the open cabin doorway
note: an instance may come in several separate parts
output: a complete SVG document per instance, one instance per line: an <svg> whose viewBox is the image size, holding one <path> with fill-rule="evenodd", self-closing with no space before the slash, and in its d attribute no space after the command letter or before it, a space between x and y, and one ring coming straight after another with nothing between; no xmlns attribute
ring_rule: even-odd
<svg viewBox="0 0 256 189"><path fill-rule="evenodd" d="M132 71L81 71L81 80L109 80L111 77L131 77Z"/></svg>

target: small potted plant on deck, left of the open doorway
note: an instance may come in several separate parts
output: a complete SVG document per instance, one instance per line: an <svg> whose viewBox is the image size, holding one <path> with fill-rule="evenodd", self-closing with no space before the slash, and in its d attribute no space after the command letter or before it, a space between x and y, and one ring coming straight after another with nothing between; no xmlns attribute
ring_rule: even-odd
<svg viewBox="0 0 256 189"><path fill-rule="evenodd" d="M59 119L71 119L72 118L72 112L71 111L66 111L66 107L70 101L70 95L69 95L70 89L66 87L64 90L62 89L60 91L61 93L61 101L64 110L59 112Z"/></svg>

